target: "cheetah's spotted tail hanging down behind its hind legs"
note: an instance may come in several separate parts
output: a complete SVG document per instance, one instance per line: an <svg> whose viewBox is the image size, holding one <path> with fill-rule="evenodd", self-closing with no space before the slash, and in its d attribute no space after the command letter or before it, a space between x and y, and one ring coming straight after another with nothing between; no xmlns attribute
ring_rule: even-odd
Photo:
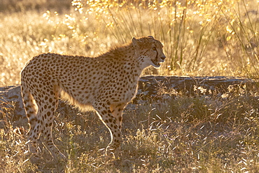
<svg viewBox="0 0 259 173"><path fill-rule="evenodd" d="M26 83L21 82L22 100L25 106L25 112L29 120L29 124L32 125L37 122L36 114L38 112L38 106L34 100L34 97L29 92Z"/></svg>

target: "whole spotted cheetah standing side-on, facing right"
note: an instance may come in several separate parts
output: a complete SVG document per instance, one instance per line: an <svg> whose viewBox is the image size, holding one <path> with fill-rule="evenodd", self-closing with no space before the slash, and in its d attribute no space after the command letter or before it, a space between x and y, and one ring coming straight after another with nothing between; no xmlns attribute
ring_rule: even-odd
<svg viewBox="0 0 259 173"><path fill-rule="evenodd" d="M41 54L21 72L22 98L29 121L27 144L38 155L38 139L53 158L66 159L52 140L58 99L66 98L80 109L92 107L109 129L106 155L120 155L123 109L134 98L141 72L165 62L162 43L153 36L111 48L98 57Z"/></svg>

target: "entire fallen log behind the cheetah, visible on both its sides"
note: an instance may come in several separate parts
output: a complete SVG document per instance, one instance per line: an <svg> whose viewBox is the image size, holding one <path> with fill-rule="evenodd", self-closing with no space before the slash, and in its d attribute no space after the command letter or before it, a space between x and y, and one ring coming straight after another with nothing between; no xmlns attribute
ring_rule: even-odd
<svg viewBox="0 0 259 173"><path fill-rule="evenodd" d="M244 89L246 92L257 87L258 81L250 78L235 78L225 76L187 77L187 76L141 76L139 88L133 103L139 99L160 99L167 95L223 95L226 92ZM60 101L58 109L64 109L68 104ZM71 106L69 106L71 107ZM25 118L20 85L0 88L0 120L4 109L13 108L17 118ZM69 108L70 109L70 108ZM59 110L57 110L59 111Z"/></svg>

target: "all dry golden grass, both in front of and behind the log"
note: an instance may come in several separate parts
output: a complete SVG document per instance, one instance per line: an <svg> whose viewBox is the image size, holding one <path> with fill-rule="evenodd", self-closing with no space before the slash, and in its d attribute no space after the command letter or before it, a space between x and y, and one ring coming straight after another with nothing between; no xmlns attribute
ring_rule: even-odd
<svg viewBox="0 0 259 173"><path fill-rule="evenodd" d="M77 11L58 0L1 2L0 85L20 83L22 67L39 53L94 56L132 36L150 34L165 45L167 62L159 74L258 76L254 0L143 1L147 3L141 6L139 1L120 6L74 1ZM13 131L13 110L6 109L0 121L0 170L258 172L257 92L226 98L176 95L130 105L124 113L120 160L103 157L109 132L97 116L72 112L57 114L53 127L55 143L68 162L53 162L43 147L46 159L31 164L26 139Z"/></svg>

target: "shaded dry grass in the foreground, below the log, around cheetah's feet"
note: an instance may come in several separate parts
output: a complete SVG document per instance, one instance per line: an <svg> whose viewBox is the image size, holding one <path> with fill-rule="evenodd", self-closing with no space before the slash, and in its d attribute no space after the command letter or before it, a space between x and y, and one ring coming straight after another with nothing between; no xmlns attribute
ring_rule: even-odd
<svg viewBox="0 0 259 173"><path fill-rule="evenodd" d="M55 143L69 158L28 160L26 139L13 132L12 110L0 129L3 172L257 172L258 93L222 98L166 98L130 104L123 119L123 156L105 158L109 132L94 113L57 114Z"/></svg>

